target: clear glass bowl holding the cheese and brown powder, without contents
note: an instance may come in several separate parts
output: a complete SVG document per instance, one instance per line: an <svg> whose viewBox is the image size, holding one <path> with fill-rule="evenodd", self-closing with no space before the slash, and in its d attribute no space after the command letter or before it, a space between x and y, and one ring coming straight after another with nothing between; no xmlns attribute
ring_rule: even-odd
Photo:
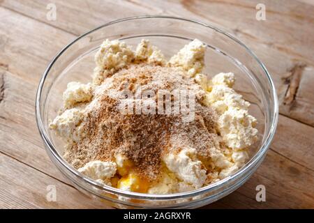
<svg viewBox="0 0 314 223"><path fill-rule="evenodd" d="M237 173L198 190L156 195L127 192L80 174L63 160L63 141L48 124L57 115L62 93L71 81L91 82L94 54L106 38L137 45L151 40L167 59L197 38L207 45L204 73L234 72L234 89L251 102L257 118L258 141L250 148L250 160ZM278 121L278 99L269 72L246 45L220 29L177 17L142 16L116 20L75 39L54 57L40 79L36 97L36 119L51 160L78 190L116 208L197 208L225 197L243 185L260 166L274 137Z"/></svg>

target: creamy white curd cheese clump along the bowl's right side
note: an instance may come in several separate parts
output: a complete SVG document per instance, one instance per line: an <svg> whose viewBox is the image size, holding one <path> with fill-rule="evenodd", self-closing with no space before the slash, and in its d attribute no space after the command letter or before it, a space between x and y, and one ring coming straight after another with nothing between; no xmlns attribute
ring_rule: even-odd
<svg viewBox="0 0 314 223"><path fill-rule="evenodd" d="M249 102L246 102L231 87L234 74L219 73L210 81L211 91L204 103L214 107L220 117L218 130L228 147L240 150L251 146L257 139L256 119L248 114Z"/></svg>

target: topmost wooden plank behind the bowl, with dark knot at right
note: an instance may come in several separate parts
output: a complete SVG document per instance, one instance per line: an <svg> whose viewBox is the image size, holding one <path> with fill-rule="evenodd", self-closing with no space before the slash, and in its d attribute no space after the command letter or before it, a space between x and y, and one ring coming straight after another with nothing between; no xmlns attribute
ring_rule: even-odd
<svg viewBox="0 0 314 223"><path fill-rule="evenodd" d="M283 103L290 83L285 75L297 64L314 68L314 6L307 1L264 1L266 21L257 21L255 6L260 1L54 1L57 20L47 20L47 4L50 1L3 1L1 6L33 17L59 29L80 35L89 29L121 17L134 15L175 15L210 22L240 38L266 64L274 77L281 112L286 116L314 126L314 90L300 95L296 91L292 105ZM80 15L80 17L77 17ZM241 16L239 16L241 15ZM281 62L278 63L278 59ZM313 72L312 72L313 74ZM301 83L314 82L314 75L301 75ZM308 89L306 89L308 90ZM304 112L307 115L304 116Z"/></svg>

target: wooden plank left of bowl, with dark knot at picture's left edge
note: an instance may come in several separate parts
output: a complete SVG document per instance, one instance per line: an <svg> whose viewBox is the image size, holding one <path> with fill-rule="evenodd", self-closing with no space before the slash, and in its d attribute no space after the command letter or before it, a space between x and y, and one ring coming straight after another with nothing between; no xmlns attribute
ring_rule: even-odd
<svg viewBox="0 0 314 223"><path fill-rule="evenodd" d="M0 102L0 151L50 176L65 180L50 162L36 126L36 85L0 69L3 100ZM40 162L38 162L40 161Z"/></svg>

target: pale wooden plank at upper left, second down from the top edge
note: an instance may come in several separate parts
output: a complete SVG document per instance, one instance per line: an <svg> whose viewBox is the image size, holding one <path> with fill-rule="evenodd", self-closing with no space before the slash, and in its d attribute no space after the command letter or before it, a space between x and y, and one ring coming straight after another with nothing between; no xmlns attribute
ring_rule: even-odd
<svg viewBox="0 0 314 223"><path fill-rule="evenodd" d="M75 36L0 7L0 67L38 83L49 61Z"/></svg>

